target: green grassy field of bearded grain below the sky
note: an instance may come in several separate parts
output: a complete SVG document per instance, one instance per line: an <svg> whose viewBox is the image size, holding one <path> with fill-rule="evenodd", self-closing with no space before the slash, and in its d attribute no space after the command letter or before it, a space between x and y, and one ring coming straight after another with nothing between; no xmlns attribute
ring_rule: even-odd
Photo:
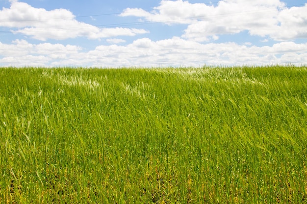
<svg viewBox="0 0 307 204"><path fill-rule="evenodd" d="M0 203L307 203L307 68L0 68Z"/></svg>

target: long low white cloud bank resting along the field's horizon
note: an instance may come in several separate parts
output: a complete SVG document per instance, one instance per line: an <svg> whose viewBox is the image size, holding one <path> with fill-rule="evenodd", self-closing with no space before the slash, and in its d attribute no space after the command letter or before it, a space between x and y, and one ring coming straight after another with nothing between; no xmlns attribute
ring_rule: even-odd
<svg viewBox="0 0 307 204"><path fill-rule="evenodd" d="M0 66L304 65L307 62L306 50L307 43L281 42L272 46L201 44L174 37L160 41L142 38L128 45L99 45L83 52L74 45L34 45L25 40L16 40L10 45L0 43Z"/></svg>

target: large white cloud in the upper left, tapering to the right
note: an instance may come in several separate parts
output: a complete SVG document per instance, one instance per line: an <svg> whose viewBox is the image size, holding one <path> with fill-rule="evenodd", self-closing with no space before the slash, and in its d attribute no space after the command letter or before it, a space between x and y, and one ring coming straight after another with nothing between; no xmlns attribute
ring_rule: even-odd
<svg viewBox="0 0 307 204"><path fill-rule="evenodd" d="M11 0L10 8L0 10L0 26L18 28L12 29L12 32L32 36L32 38L41 41L77 37L100 39L148 33L144 29L99 28L91 24L78 22L75 18L73 13L66 9L47 11L16 0Z"/></svg>

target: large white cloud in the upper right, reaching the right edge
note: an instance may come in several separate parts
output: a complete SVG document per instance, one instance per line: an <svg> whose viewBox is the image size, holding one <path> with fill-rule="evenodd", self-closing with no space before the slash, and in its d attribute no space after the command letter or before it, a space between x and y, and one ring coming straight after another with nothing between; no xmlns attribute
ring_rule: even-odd
<svg viewBox="0 0 307 204"><path fill-rule="evenodd" d="M276 41L307 38L307 4L287 8L280 0L221 0L217 6L162 0L152 12L128 8L121 16L142 17L169 25L187 24L182 37L198 42L245 30Z"/></svg>

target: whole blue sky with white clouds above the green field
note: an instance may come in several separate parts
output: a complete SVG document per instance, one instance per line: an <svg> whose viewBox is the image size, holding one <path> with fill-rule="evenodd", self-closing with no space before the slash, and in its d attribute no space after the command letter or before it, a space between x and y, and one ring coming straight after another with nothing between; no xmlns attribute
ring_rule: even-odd
<svg viewBox="0 0 307 204"><path fill-rule="evenodd" d="M0 0L0 67L307 65L306 0Z"/></svg>

